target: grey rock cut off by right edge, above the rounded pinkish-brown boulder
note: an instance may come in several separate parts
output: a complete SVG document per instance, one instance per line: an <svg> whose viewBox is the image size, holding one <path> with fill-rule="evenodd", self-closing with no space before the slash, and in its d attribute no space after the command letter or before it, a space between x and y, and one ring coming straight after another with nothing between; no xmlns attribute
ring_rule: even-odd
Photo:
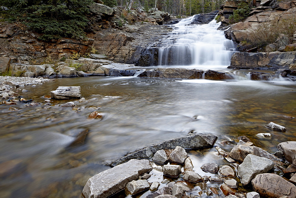
<svg viewBox="0 0 296 198"><path fill-rule="evenodd" d="M283 151L284 157L288 162L296 165L296 141L279 143L276 148Z"/></svg>

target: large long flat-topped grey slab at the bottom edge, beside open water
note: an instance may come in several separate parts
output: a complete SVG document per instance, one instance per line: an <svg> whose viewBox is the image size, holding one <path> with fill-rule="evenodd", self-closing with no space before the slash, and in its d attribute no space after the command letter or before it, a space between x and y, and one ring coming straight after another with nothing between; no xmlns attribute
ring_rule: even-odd
<svg viewBox="0 0 296 198"><path fill-rule="evenodd" d="M131 159L94 175L86 182L82 194L84 197L109 197L125 188L128 182L136 180L139 175L150 170L152 166L149 160Z"/></svg>

